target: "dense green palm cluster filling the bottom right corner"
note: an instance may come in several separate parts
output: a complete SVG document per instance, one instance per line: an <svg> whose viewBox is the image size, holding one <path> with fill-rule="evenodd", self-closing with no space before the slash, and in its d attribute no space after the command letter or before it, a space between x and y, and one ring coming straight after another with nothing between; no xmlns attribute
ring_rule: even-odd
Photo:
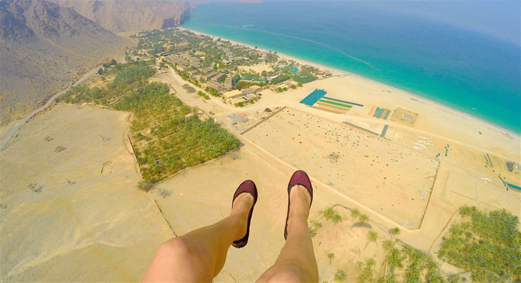
<svg viewBox="0 0 521 283"><path fill-rule="evenodd" d="M519 219L505 209L462 207L462 220L443 237L438 257L471 272L474 282L521 281Z"/></svg>

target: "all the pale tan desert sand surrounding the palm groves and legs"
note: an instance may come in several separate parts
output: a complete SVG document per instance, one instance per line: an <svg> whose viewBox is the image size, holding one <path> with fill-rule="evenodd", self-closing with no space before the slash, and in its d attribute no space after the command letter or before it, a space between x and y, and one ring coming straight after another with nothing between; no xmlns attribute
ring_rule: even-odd
<svg viewBox="0 0 521 283"><path fill-rule="evenodd" d="M171 192L163 198L137 189L129 113L57 105L37 115L0 151L3 281L140 280L162 242L228 215L244 179L259 190L250 240L230 248L215 281L253 281L284 244L286 186L296 169L309 173L315 189L309 221L334 204L343 217L336 225L325 222L313 238L320 281L331 281L337 269L354 281L357 261L381 262L381 242L393 227L413 247L436 252L464 204L521 217L521 191L506 190L498 177L520 185L519 172L507 172L504 162L521 163L521 137L464 113L342 72L283 93L265 90L242 108L185 92L169 69L153 80L168 83L244 145L160 182L157 188ZM339 114L299 103L315 89L363 106ZM414 125L377 119L369 115L375 107L401 107L418 118ZM343 122L377 134L385 125L388 130L380 137ZM485 166L486 155L493 168ZM41 192L31 183L43 186ZM367 225L342 206L369 215ZM367 241L369 230L379 234L377 243Z"/></svg>

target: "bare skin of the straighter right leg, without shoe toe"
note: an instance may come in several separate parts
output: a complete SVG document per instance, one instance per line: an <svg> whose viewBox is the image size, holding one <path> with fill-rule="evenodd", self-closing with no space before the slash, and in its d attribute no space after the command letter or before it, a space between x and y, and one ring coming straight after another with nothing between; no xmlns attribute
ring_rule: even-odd
<svg viewBox="0 0 521 283"><path fill-rule="evenodd" d="M290 191L288 236L275 264L257 282L318 282L318 267L307 226L312 199L304 186Z"/></svg>

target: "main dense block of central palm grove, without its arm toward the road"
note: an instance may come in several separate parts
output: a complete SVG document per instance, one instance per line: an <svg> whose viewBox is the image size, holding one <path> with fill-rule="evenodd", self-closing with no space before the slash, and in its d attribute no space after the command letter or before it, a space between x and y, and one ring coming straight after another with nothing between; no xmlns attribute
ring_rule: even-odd
<svg viewBox="0 0 521 283"><path fill-rule="evenodd" d="M167 84L139 88L122 97L114 108L135 113L132 145L147 182L155 183L224 155L240 144L212 119L201 121L195 108L168 93Z"/></svg>

